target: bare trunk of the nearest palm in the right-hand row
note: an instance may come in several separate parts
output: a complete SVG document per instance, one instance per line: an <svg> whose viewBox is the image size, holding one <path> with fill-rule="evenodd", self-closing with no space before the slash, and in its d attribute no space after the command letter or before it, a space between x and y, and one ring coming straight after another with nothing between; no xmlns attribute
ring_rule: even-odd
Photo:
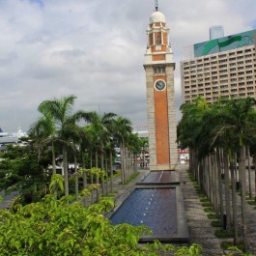
<svg viewBox="0 0 256 256"><path fill-rule="evenodd" d="M240 148L240 177L241 177L241 201L242 201L242 242L243 251L247 252L247 214L246 214L246 183L245 183L245 147Z"/></svg>

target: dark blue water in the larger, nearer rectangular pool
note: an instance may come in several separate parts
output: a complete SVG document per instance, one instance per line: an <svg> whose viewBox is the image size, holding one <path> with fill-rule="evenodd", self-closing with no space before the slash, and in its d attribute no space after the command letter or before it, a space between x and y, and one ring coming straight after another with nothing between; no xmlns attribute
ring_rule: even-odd
<svg viewBox="0 0 256 256"><path fill-rule="evenodd" d="M177 234L175 188L136 188L111 217L113 225L144 224L154 236Z"/></svg>

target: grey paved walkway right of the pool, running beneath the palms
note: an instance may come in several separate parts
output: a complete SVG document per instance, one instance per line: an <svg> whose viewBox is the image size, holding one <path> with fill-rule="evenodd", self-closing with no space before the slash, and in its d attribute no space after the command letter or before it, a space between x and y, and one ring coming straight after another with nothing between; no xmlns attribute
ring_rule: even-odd
<svg viewBox="0 0 256 256"><path fill-rule="evenodd" d="M224 240L215 238L214 231L216 228L213 228L211 226L212 220L208 219L207 213L203 211L201 202L193 188L192 183L189 181L188 175L186 173L187 169L188 165L180 165L179 171L184 191L185 212L190 232L190 242L202 244L202 246L204 247L204 255L221 255L221 253L223 253L223 250L220 248L220 243ZM251 171L251 173L252 172L254 172L254 170ZM252 176L254 179L254 174L252 174ZM252 184L253 191L255 188L254 186L255 185ZM241 225L241 197L238 194L237 202L239 225ZM256 255L256 209L255 206L251 206L249 204L247 204L246 207L246 213L248 218L247 234L248 241L250 243L250 253Z"/></svg>

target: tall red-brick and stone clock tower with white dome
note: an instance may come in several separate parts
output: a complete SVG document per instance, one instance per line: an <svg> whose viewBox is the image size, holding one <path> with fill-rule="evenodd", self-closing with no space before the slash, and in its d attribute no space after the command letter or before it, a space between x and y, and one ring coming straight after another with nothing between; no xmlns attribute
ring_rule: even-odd
<svg viewBox="0 0 256 256"><path fill-rule="evenodd" d="M157 3L157 2L156 2ZM145 53L151 170L175 170L178 163L173 52L164 14L150 17Z"/></svg>

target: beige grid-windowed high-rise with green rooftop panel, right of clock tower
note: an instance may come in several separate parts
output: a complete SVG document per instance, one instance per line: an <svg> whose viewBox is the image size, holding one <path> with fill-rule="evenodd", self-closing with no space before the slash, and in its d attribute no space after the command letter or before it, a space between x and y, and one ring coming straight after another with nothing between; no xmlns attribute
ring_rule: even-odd
<svg viewBox="0 0 256 256"><path fill-rule="evenodd" d="M255 44L256 30L194 44L194 58L181 62L183 102L256 99Z"/></svg>

